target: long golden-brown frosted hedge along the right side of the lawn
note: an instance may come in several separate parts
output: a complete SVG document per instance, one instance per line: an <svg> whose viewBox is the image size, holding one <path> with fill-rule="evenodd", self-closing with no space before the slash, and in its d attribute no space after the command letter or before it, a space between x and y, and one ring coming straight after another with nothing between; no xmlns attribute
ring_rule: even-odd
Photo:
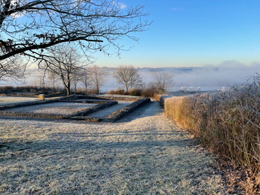
<svg viewBox="0 0 260 195"><path fill-rule="evenodd" d="M242 168L247 194L260 185L260 75L226 92L166 99L166 115L189 129L234 168Z"/></svg>

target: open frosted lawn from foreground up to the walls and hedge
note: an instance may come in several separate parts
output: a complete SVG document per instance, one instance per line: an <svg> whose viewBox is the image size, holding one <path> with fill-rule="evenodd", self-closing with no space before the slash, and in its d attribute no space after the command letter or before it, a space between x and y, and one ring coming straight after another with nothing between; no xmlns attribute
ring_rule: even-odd
<svg viewBox="0 0 260 195"><path fill-rule="evenodd" d="M1 194L227 194L159 103L114 124L0 120Z"/></svg>

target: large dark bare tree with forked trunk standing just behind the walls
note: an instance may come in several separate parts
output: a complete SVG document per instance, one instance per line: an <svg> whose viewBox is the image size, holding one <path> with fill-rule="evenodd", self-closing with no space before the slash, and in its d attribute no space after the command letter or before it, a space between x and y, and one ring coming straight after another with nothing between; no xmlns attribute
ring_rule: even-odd
<svg viewBox="0 0 260 195"><path fill-rule="evenodd" d="M80 61L81 56L78 55L75 48L69 45L60 45L53 48L50 52L52 60L45 61L46 70L59 75L66 89L66 94L71 94L71 82L80 70L85 68L85 63Z"/></svg>

